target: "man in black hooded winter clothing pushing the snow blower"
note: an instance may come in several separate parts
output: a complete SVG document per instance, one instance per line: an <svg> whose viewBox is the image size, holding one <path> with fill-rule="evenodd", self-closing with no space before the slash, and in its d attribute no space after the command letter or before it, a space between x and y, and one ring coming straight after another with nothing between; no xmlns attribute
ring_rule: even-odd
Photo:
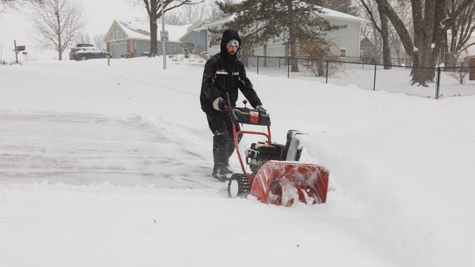
<svg viewBox="0 0 475 267"><path fill-rule="evenodd" d="M211 175L222 181L228 180L233 174L228 164L234 152L233 126L225 111L225 106L228 106L226 93L229 94L232 107L236 106L237 89L240 89L252 107L265 110L246 76L244 65L237 59L237 50L241 45L237 31L224 31L221 51L206 62L201 84L201 109L206 113L208 125L214 135L214 166ZM236 126L239 131L239 126Z"/></svg>

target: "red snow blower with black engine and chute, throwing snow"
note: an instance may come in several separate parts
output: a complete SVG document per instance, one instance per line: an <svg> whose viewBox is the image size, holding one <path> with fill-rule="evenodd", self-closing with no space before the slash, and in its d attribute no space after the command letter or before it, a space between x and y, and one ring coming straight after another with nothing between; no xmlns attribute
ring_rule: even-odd
<svg viewBox="0 0 475 267"><path fill-rule="evenodd" d="M228 107L231 107L228 97ZM244 101L246 104L247 101ZM285 144L272 142L270 117L266 111L246 107L228 108L233 123L234 146L242 173L235 173L228 182L229 197L252 195L260 202L292 206L296 202L307 205L326 202L329 171L324 167L299 163L301 143L299 131L287 131ZM236 124L267 126L267 133L236 131ZM255 134L265 136L266 141L252 143L242 157L237 136ZM245 165L249 165L247 173Z"/></svg>

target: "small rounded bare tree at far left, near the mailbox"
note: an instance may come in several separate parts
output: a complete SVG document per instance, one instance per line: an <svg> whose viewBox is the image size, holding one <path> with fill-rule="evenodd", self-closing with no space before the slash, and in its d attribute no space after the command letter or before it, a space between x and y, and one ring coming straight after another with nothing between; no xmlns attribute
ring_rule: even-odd
<svg viewBox="0 0 475 267"><path fill-rule="evenodd" d="M81 6L70 0L43 0L33 6L32 20L33 39L42 48L58 51L59 60L85 27Z"/></svg>

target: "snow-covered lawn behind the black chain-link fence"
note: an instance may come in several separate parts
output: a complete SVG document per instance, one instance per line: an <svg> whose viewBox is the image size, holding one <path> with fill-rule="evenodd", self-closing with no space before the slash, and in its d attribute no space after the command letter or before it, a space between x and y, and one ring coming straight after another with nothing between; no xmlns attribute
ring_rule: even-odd
<svg viewBox="0 0 475 267"><path fill-rule="evenodd" d="M299 72L289 72L287 65L284 65L284 59L268 58L267 67L264 67L264 58L260 58L259 70L257 70L257 58L250 58L248 72L259 72L259 74L287 77L293 79L316 80L326 82L326 77L315 77L314 73L307 67L308 63L301 60L299 63ZM323 64L326 70L326 64ZM374 65L362 65L360 63L335 63L330 62L329 83L336 85L356 85L361 89L377 91L404 93L417 97L437 98L437 88L435 82L429 82L427 87L417 87L411 85L410 67L393 67L390 70L384 70L383 66L378 65L375 70ZM459 97L475 95L475 80L469 80L469 67L464 67L464 83L454 77L454 72L441 72L439 97ZM375 79L376 72L376 79ZM434 72L436 72L434 70ZM436 74L437 77L437 74Z"/></svg>

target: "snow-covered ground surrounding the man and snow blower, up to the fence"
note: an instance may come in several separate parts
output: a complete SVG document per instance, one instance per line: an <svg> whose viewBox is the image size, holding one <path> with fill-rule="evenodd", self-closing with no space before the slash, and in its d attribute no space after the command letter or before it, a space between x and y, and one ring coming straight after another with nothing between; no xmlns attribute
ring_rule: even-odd
<svg viewBox="0 0 475 267"><path fill-rule="evenodd" d="M203 62L161 62L0 66L1 267L475 265L475 97L248 72L330 171L326 204L275 207L210 178Z"/></svg>

